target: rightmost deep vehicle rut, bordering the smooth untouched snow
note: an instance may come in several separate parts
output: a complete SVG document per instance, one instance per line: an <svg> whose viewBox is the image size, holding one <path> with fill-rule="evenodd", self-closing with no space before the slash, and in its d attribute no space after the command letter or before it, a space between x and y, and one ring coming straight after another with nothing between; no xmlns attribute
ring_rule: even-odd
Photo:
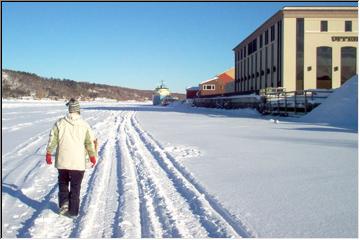
<svg viewBox="0 0 360 240"><path fill-rule="evenodd" d="M243 222L235 219L225 208L216 202L190 174L165 150L144 132L135 119L131 117L131 126L137 132L144 146L153 155L161 168L167 173L179 193L191 206L193 214L199 216L209 237L254 237L256 236Z"/></svg>

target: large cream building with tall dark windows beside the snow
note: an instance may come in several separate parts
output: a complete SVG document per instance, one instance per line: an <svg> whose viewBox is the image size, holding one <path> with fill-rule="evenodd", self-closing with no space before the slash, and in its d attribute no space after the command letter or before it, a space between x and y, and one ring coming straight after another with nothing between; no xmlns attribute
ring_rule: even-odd
<svg viewBox="0 0 360 240"><path fill-rule="evenodd" d="M357 72L358 7L284 7L238 44L235 92L337 88Z"/></svg>

